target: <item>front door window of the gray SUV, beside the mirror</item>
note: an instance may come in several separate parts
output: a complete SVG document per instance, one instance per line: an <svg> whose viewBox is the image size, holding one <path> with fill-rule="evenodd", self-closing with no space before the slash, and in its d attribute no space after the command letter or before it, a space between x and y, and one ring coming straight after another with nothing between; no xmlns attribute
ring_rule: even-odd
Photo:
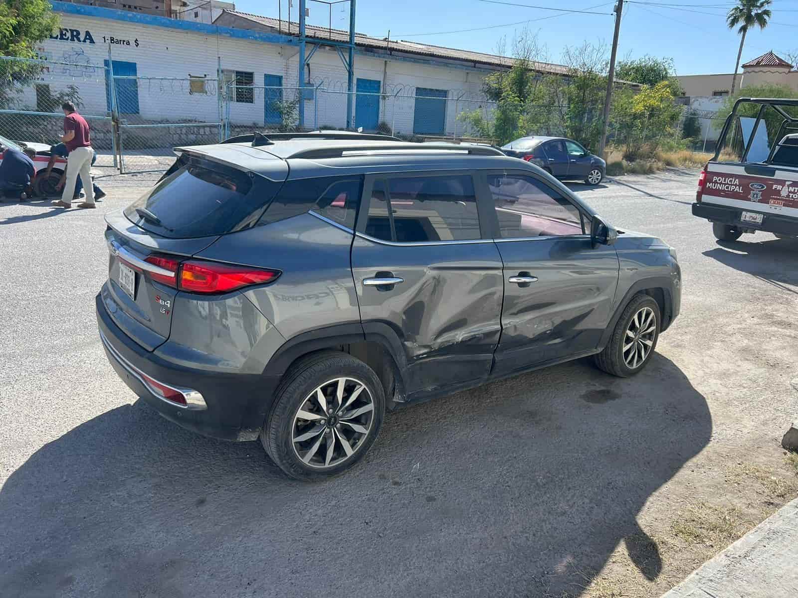
<svg viewBox="0 0 798 598"><path fill-rule="evenodd" d="M538 179L488 175L501 238L583 234L579 210Z"/></svg>

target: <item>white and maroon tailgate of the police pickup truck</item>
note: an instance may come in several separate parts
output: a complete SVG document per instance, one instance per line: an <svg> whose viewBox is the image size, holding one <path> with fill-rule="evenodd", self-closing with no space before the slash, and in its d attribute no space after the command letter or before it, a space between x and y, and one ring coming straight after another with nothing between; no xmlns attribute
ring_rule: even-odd
<svg viewBox="0 0 798 598"><path fill-rule="evenodd" d="M798 169L710 162L701 203L798 218Z"/></svg>

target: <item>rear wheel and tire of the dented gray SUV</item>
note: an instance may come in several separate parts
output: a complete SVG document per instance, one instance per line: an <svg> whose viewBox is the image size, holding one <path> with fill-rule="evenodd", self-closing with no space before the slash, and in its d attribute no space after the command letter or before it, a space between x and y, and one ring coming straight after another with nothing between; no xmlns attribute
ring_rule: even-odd
<svg viewBox="0 0 798 598"><path fill-rule="evenodd" d="M286 373L260 439L291 478L318 481L360 461L384 415L385 392L373 369L346 353L321 352Z"/></svg>

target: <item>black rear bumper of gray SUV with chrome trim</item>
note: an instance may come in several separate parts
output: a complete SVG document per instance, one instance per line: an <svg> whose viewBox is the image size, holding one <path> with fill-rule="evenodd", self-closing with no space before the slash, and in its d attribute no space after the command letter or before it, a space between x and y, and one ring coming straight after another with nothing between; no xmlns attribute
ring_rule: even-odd
<svg viewBox="0 0 798 598"><path fill-rule="evenodd" d="M136 344L114 323L98 294L97 326L109 363L133 392L166 419L197 432L223 440L255 440L271 406L274 388L264 376L222 374L185 368L169 363ZM188 395L188 406L171 403L155 395L145 377ZM273 381L272 381L273 382ZM204 404L204 407L203 407Z"/></svg>

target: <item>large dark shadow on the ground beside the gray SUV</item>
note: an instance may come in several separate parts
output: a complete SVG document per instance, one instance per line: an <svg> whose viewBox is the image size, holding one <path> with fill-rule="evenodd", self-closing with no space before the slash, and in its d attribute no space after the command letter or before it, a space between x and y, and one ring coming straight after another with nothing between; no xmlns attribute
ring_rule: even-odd
<svg viewBox="0 0 798 598"><path fill-rule="evenodd" d="M628 380L581 360L395 411L307 485L139 401L11 474L0 595L578 596L622 541L654 580L638 511L711 432L665 357Z"/></svg>

